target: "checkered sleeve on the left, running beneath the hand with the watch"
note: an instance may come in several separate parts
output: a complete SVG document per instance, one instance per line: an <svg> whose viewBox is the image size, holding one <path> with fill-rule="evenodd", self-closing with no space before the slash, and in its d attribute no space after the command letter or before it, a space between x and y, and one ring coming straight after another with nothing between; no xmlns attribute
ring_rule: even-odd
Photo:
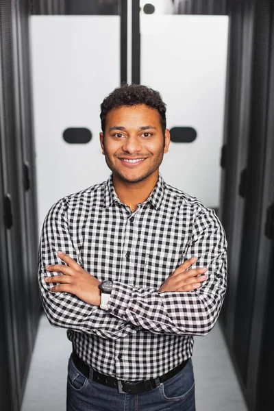
<svg viewBox="0 0 274 411"><path fill-rule="evenodd" d="M47 284L45 277L49 274L62 274L54 271L49 273L45 267L49 264L64 264L58 258L59 250L68 253L75 262L82 265L79 250L71 242L64 201L56 203L45 219L38 255L38 282L42 306L51 325L96 334L102 338L116 339L135 333L136 327L132 323L82 301L71 292L50 290L53 284Z"/></svg>

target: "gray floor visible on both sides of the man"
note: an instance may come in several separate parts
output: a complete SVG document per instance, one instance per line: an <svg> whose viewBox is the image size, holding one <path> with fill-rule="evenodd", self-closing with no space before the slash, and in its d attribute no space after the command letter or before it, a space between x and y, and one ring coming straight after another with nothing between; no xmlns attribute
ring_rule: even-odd
<svg viewBox="0 0 274 411"><path fill-rule="evenodd" d="M70 353L66 330L51 327L42 315L21 411L65 411ZM247 411L218 324L195 338L193 364L197 411Z"/></svg>

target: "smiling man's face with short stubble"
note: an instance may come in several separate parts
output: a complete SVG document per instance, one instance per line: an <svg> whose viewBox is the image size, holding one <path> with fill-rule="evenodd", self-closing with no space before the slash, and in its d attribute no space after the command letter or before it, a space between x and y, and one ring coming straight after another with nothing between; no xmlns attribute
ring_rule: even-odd
<svg viewBox="0 0 274 411"><path fill-rule="evenodd" d="M114 177L136 183L158 174L170 136L166 129L163 137L157 110L145 104L123 105L108 113L100 142Z"/></svg>

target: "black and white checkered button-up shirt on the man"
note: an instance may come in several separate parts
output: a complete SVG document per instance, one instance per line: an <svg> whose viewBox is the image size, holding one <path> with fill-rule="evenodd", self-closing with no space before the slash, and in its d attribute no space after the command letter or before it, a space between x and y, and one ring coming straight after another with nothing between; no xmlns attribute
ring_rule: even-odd
<svg viewBox="0 0 274 411"><path fill-rule="evenodd" d="M108 311L69 292L51 292L47 264L71 256L114 287ZM192 292L158 292L188 258L206 266L208 279ZM39 282L51 325L67 336L92 369L117 379L158 377L192 355L193 336L205 336L219 315L226 288L227 242L214 210L158 183L131 212L108 181L64 197L42 229Z"/></svg>

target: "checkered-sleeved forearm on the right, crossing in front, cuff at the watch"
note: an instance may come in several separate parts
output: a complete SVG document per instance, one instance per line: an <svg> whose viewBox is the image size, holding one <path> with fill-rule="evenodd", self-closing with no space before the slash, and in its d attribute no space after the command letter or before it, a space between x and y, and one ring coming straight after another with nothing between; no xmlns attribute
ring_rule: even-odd
<svg viewBox="0 0 274 411"><path fill-rule="evenodd" d="M205 336L218 319L225 290L226 250L212 259L198 290L158 292L115 282L108 307L117 318L155 334Z"/></svg>

